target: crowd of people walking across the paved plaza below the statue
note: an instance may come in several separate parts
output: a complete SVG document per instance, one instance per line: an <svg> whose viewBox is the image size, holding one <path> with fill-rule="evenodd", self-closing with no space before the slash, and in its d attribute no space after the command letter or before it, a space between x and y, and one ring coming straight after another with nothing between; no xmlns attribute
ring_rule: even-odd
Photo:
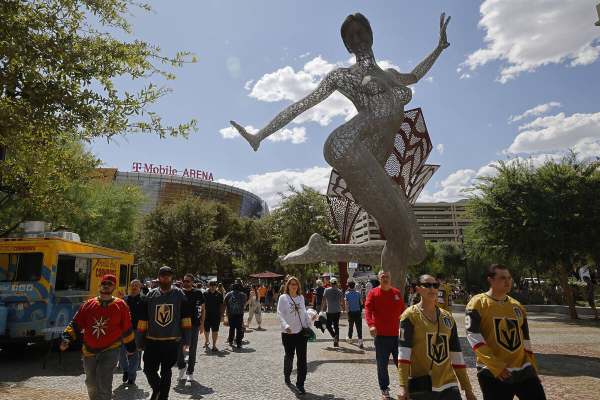
<svg viewBox="0 0 600 400"><path fill-rule="evenodd" d="M507 296L512 285L508 269L494 264L489 267L487 276L490 290L473 296L465 311L467 339L477 356L477 378L483 399L508 400L515 395L521 400L545 399L533 357L526 311ZM274 284L268 287L244 285L242 279L237 278L229 291L215 281L209 282L207 288L197 288L194 276L187 274L180 289L173 284L173 272L168 266L158 270L157 281L157 287L143 293L142 284L134 279L130 293L118 299L112 296L116 277L105 275L100 282L100 294L79 309L65 330L62 350L76 338L82 338L83 369L90 399L111 398L112 375L117 362L123 371L124 383L135 384L142 352L143 372L152 388L150 399L167 399L173 366L178 367L178 380L194 380L199 335L205 334L205 348L219 351L217 338L223 321L223 325L229 327L227 342L241 348L245 327L252 318L260 327L261 313L269 308L269 302L260 302L261 297L268 299L267 288L275 287ZM292 384L296 359L296 391L305 393L308 340L315 335L312 327L323 333L327 330L333 346L338 347L339 320L345 314L346 341L352 342L356 332L358 345L363 348L364 307L383 399L391 399L390 356L398 368L398 399L458 400L460 389L467 400L476 399L466 374L457 324L452 315L452 291L445 276L419 276L414 286L415 295L409 294L408 308L403 293L391 287L389 271L380 270L378 281L376 287L365 288L364 299L356 289L360 284L350 281L343 292L336 278L325 276L323 281L316 281L310 303L295 276L287 277L283 285L278 285L273 305L281 325L284 383ZM265 287L265 296L260 287ZM246 307L248 318L244 323ZM188 350L187 360L185 350Z"/></svg>

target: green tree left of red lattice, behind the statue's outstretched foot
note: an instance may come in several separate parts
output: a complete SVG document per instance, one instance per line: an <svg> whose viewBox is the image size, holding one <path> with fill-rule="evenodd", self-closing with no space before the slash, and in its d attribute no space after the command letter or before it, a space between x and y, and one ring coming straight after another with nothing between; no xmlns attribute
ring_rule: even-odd
<svg viewBox="0 0 600 400"><path fill-rule="evenodd" d="M281 201L272 212L276 232L274 249L279 255L286 255L306 245L313 233L332 236L327 225L327 206L319 192L304 185L302 190L289 185L288 190L291 192L289 195L278 193ZM301 264L286 269L304 282L310 267L311 264Z"/></svg>

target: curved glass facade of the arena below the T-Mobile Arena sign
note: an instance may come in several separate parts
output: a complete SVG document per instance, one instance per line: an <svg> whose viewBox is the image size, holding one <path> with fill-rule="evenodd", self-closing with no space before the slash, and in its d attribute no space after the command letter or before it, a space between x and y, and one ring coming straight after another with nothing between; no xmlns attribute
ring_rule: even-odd
<svg viewBox="0 0 600 400"><path fill-rule="evenodd" d="M265 201L246 190L204 179L161 175L142 172L116 172L116 181L143 188L150 204L173 204L187 193L202 199L213 199L227 204L239 217L260 217L269 213ZM148 209L143 210L148 212Z"/></svg>

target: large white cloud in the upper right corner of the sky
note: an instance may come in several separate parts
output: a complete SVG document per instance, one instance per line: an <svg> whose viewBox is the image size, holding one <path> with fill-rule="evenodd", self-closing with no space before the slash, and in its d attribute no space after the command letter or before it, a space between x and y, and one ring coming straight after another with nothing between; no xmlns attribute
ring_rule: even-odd
<svg viewBox="0 0 600 400"><path fill-rule="evenodd" d="M581 0L487 0L479 28L487 47L461 65L471 70L490 61L503 64L497 80L506 83L524 71L548 64L587 65L600 56L600 31L593 26L593 4Z"/></svg>

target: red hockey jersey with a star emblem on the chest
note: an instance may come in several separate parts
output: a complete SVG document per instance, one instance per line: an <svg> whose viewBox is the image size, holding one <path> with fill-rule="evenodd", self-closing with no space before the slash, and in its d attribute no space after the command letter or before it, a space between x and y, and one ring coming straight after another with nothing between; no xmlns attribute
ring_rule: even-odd
<svg viewBox="0 0 600 400"><path fill-rule="evenodd" d="M127 303L116 297L109 302L94 297L77 310L62 333L62 341L71 343L79 336L82 339L83 354L92 356L109 348L119 347L121 335L127 351L133 353L136 344Z"/></svg>

